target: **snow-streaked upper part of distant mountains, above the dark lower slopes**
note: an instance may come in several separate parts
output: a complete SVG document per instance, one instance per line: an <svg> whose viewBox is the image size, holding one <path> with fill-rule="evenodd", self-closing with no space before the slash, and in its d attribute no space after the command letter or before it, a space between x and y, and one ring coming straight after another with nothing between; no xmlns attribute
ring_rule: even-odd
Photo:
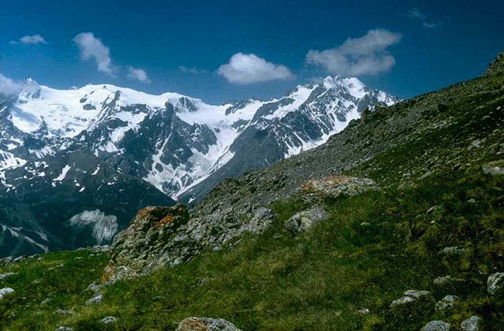
<svg viewBox="0 0 504 331"><path fill-rule="evenodd" d="M270 139L261 143L269 144L264 148L271 151L259 165L244 161L243 169L316 147L365 107L396 102L357 78L339 76L299 85L279 98L224 105L109 84L57 90L26 80L18 92L5 122L17 133L3 140L26 152L6 150L4 168L21 167L32 157L84 149L112 168L121 164L123 171L173 197L239 158L237 153L258 137ZM54 171L61 174L64 169Z"/></svg>

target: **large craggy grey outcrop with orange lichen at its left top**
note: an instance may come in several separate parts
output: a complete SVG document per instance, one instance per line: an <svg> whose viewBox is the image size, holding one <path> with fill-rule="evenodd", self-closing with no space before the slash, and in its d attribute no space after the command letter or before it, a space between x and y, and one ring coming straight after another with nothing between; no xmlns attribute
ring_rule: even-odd
<svg viewBox="0 0 504 331"><path fill-rule="evenodd" d="M192 218L182 204L146 207L115 237L102 281L134 278L177 265L207 249L222 249L247 232L263 232L272 219L271 210L264 207L240 212L228 208Z"/></svg>

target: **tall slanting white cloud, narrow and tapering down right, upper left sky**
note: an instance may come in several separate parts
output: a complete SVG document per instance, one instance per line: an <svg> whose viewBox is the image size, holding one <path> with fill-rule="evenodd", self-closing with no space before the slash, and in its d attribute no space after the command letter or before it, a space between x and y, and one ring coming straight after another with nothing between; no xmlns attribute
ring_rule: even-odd
<svg viewBox="0 0 504 331"><path fill-rule="evenodd" d="M95 38L92 32L83 32L74 37L73 41L79 46L83 60L94 59L98 65L98 71L112 75L117 68L112 65L110 49L99 38Z"/></svg>

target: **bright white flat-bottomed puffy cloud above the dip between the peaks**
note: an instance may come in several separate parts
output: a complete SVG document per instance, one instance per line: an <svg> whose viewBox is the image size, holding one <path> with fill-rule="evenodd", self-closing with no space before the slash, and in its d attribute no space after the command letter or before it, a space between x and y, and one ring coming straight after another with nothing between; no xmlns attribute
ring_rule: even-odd
<svg viewBox="0 0 504 331"><path fill-rule="evenodd" d="M250 84L293 77L292 72L285 65L268 62L255 54L243 53L231 56L229 63L221 65L217 73L234 84Z"/></svg>

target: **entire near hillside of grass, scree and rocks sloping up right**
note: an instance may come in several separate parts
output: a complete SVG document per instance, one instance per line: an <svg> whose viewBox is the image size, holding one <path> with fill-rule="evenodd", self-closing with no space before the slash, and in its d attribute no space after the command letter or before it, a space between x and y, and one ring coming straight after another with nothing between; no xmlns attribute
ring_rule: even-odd
<svg viewBox="0 0 504 331"><path fill-rule="evenodd" d="M325 144L222 181L190 212L144 208L109 251L4 260L0 274L13 274L0 288L13 292L0 325L175 329L205 316L243 330L499 329L501 61L364 110ZM178 329L197 329L188 323Z"/></svg>

